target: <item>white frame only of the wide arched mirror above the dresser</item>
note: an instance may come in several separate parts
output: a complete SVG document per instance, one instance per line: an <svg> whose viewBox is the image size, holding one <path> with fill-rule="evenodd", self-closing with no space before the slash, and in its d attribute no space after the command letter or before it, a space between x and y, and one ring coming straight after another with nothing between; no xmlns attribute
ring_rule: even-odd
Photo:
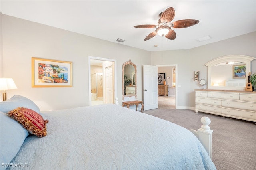
<svg viewBox="0 0 256 170"><path fill-rule="evenodd" d="M246 64L246 72L251 71L251 61L254 60L254 57L246 56L246 55L227 55L223 57L218 57L213 59L205 64L208 67L207 73L207 89L220 89L220 90L245 90L245 87L228 87L228 86L211 86L211 69L214 65L228 62L228 61L236 61ZM246 83L248 83L248 74L246 73Z"/></svg>

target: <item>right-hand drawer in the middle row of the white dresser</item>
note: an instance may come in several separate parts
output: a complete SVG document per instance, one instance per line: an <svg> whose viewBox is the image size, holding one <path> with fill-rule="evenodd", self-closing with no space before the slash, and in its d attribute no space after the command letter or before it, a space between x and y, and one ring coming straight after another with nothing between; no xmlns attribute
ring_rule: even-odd
<svg viewBox="0 0 256 170"><path fill-rule="evenodd" d="M222 107L233 107L237 109L256 111L256 103L253 102L222 100Z"/></svg>

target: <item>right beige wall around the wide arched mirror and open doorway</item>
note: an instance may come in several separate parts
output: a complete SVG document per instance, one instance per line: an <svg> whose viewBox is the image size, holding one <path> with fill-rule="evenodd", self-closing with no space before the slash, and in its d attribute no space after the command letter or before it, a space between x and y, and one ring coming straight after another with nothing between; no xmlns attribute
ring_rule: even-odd
<svg viewBox="0 0 256 170"><path fill-rule="evenodd" d="M244 34L227 40L203 45L193 49L164 51L164 59L159 59L161 51L151 53L151 63L154 65L177 64L176 76L178 82L178 108L193 109L195 107L194 89L202 88L194 81L194 71L199 71L199 79L207 81L208 61L226 55L248 55L256 58L256 32ZM153 65L153 64L152 64ZM251 63L252 73L256 72L256 59Z"/></svg>

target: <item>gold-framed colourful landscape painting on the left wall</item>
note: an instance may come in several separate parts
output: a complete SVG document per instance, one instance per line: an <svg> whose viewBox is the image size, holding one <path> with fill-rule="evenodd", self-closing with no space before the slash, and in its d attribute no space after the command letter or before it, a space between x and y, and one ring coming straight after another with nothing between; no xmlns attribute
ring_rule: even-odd
<svg viewBox="0 0 256 170"><path fill-rule="evenodd" d="M32 57L32 87L72 87L72 62Z"/></svg>

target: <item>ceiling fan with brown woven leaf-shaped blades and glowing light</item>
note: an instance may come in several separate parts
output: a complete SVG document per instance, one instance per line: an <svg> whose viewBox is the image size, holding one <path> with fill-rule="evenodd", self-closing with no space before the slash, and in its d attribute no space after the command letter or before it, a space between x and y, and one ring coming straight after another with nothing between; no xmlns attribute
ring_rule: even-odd
<svg viewBox="0 0 256 170"><path fill-rule="evenodd" d="M158 20L158 25L146 24L134 26L135 28L156 28L154 32L146 36L144 41L149 40L156 34L159 34L160 36L165 36L170 40L174 40L176 38L176 33L174 30L172 30L172 28L186 28L193 26L199 22L198 20L185 19L170 23L175 16L175 10L172 7L167 8L164 12L161 12L159 16L160 19Z"/></svg>

